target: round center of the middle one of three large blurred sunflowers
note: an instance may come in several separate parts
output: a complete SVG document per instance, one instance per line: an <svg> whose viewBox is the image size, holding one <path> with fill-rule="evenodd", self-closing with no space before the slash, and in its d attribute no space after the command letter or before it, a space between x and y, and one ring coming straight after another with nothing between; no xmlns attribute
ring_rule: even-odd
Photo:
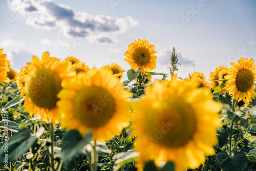
<svg viewBox="0 0 256 171"><path fill-rule="evenodd" d="M105 125L116 112L115 100L103 88L85 87L77 93L73 111L82 124L97 128Z"/></svg>

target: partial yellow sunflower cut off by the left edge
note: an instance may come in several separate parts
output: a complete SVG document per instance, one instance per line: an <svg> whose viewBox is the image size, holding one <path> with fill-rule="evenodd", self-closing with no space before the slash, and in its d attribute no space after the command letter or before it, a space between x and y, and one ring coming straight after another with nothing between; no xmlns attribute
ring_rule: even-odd
<svg viewBox="0 0 256 171"><path fill-rule="evenodd" d="M2 53L3 49L0 49L0 83L9 82L10 79L7 77L9 71L9 61L5 59L6 54Z"/></svg>

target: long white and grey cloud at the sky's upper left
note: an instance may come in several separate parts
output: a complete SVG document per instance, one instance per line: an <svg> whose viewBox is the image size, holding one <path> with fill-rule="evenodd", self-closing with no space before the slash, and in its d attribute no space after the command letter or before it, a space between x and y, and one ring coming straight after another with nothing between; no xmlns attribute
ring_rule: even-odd
<svg viewBox="0 0 256 171"><path fill-rule="evenodd" d="M9 8L28 15L27 24L40 29L58 29L67 37L88 37L98 44L112 44L112 35L125 33L130 27L139 25L131 16L113 18L108 15L92 16L87 12L75 12L69 6L53 0L8 0ZM102 34L108 33L109 36ZM92 40L93 36L98 36Z"/></svg>

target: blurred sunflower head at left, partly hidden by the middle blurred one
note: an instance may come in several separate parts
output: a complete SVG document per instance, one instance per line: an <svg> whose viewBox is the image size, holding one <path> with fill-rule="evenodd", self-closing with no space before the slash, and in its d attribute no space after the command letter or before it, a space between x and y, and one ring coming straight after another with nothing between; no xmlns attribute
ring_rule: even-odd
<svg viewBox="0 0 256 171"><path fill-rule="evenodd" d="M58 106L59 100L57 94L62 89L61 81L64 78L75 76L71 71L71 62L60 62L57 58L49 57L49 53L42 55L41 61L34 56L28 74L24 75L25 82L25 108L32 117L35 114L41 117L42 121L49 123L51 119L53 124L58 123Z"/></svg>

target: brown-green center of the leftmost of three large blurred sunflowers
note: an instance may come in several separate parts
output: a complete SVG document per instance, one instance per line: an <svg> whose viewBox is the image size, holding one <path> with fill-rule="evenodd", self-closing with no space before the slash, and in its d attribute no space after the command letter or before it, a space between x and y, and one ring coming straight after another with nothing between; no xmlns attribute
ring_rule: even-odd
<svg viewBox="0 0 256 171"><path fill-rule="evenodd" d="M61 90L61 79L54 71L39 68L31 77L27 95L40 108L53 109L59 100L57 94Z"/></svg>

